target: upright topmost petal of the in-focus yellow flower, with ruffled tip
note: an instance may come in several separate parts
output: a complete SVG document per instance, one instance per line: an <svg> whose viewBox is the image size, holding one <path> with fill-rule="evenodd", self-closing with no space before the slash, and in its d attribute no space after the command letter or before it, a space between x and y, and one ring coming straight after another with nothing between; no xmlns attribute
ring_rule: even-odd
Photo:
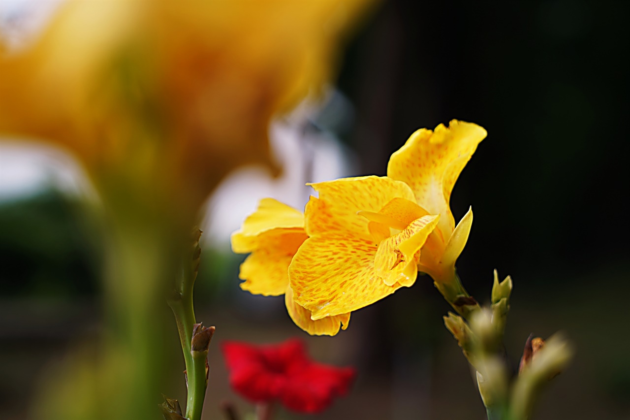
<svg viewBox="0 0 630 420"><path fill-rule="evenodd" d="M486 134L479 125L452 120L435 132L420 129L411 134L389 159L387 176L406 182L420 206L442 216L438 228L445 240L455 228L449 207L455 181Z"/></svg>

